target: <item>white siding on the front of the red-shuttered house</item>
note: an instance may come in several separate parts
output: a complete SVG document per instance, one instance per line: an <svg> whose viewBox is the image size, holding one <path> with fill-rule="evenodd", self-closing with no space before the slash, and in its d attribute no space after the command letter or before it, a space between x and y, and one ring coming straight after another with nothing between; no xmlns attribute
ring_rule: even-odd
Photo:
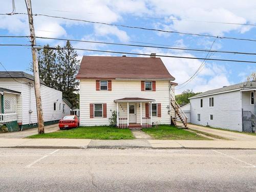
<svg viewBox="0 0 256 192"><path fill-rule="evenodd" d="M80 79L80 124L81 126L108 125L108 118L90 118L90 103L106 103L107 116L111 117L112 111L116 110L115 99L124 97L140 97L155 99L154 103L161 103L161 117L152 117L152 121L160 121L161 124L169 124L168 80L156 81L156 91L141 91L141 80L112 80L111 92L99 92L95 90L95 79ZM171 94L174 95L174 86ZM140 122L140 103L136 104L137 122ZM122 110L121 110L122 109ZM127 102L119 103L119 114L127 117ZM145 117L145 103L142 102L142 116Z"/></svg>

